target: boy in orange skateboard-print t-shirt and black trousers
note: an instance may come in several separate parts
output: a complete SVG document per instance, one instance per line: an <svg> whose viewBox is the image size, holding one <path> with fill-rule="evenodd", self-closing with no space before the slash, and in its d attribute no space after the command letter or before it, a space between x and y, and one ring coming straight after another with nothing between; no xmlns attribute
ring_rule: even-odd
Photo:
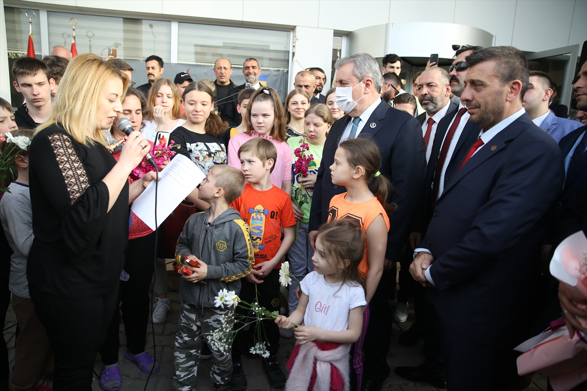
<svg viewBox="0 0 587 391"><path fill-rule="evenodd" d="M273 171L277 158L277 149L271 141L255 137L245 142L238 149L238 158L248 183L242 195L231 206L251 228L251 242L255 253L255 265L251 273L242 280L241 298L254 302L257 293L262 307L269 311L279 311L279 271L275 269L281 267L281 259L294 243L294 209L289 194L271 184L269 174ZM231 386L234 389L245 389L247 386L247 379L242 372L241 353L249 351L255 344L253 331L241 329L232 344ZM265 321L264 331L269 356L263 359L263 369L269 385L280 388L285 385L286 379L275 359L279 349L279 328L275 322Z"/></svg>

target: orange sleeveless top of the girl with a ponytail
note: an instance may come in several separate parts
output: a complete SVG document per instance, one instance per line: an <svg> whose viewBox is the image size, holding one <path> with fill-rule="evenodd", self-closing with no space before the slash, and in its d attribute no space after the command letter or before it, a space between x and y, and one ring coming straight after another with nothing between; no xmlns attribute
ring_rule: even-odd
<svg viewBox="0 0 587 391"><path fill-rule="evenodd" d="M363 232L367 232L367 228L371 225L373 220L377 216L382 215L387 231L389 232L389 217L383 209L383 205L377 200L376 197L368 201L363 202L349 202L345 199L346 193L338 194L332 197L330 200L330 206L328 208L328 221L348 219L354 223L357 223L363 229ZM367 260L367 242L365 239L365 254L359 264L359 270L363 273L363 276L367 276L369 271L369 261Z"/></svg>

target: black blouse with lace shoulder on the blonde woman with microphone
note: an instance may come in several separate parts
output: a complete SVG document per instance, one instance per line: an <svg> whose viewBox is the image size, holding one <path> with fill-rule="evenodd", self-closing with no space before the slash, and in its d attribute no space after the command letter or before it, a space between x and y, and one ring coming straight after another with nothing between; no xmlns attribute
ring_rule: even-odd
<svg viewBox="0 0 587 391"><path fill-rule="evenodd" d="M29 149L35 239L26 275L38 290L90 298L117 289L129 237L129 185L107 212L102 179L116 164L98 143L83 145L59 125L39 132Z"/></svg>

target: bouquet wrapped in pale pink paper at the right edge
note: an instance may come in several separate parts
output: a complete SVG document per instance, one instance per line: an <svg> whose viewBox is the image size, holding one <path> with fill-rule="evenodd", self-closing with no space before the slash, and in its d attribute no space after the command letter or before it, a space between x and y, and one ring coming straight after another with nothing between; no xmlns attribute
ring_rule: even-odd
<svg viewBox="0 0 587 391"><path fill-rule="evenodd" d="M587 238L582 231L573 233L556 247L550 272L561 284L568 285L575 297L587 299ZM577 320L587 326L585 319ZM564 318L551 322L548 329L515 350L524 352L518 357L518 374L539 370L548 375L555 391L570 390L587 380L587 335L577 330L571 338Z"/></svg>

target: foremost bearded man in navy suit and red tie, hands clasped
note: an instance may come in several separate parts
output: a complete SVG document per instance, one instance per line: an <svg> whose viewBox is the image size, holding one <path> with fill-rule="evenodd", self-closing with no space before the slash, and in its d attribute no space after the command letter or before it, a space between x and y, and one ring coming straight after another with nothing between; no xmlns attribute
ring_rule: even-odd
<svg viewBox="0 0 587 391"><path fill-rule="evenodd" d="M434 202L410 273L434 287L451 391L504 385L508 354L525 332L550 206L562 189L561 151L522 107L523 53L511 46L467 57L461 101L481 132ZM500 386L498 386L500 385Z"/></svg>

